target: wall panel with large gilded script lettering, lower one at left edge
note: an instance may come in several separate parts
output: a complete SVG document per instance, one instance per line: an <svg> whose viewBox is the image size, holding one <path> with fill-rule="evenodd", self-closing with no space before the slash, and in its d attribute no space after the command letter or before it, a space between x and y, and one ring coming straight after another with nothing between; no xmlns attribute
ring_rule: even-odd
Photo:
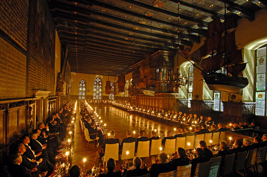
<svg viewBox="0 0 267 177"><path fill-rule="evenodd" d="M0 99L25 97L26 56L0 38Z"/></svg>

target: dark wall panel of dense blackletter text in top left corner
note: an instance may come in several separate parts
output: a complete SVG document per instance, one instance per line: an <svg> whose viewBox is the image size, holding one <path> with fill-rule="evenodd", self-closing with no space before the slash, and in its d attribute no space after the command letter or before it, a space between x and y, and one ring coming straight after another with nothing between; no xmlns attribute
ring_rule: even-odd
<svg viewBox="0 0 267 177"><path fill-rule="evenodd" d="M0 29L26 50L29 0L6 0L0 4Z"/></svg>

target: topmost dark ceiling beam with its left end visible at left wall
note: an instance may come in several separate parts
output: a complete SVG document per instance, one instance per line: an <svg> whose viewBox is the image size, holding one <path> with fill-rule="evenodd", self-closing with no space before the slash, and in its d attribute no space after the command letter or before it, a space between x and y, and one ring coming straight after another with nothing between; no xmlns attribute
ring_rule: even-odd
<svg viewBox="0 0 267 177"><path fill-rule="evenodd" d="M113 16L110 16L110 15L106 15L104 13L100 13L100 12L96 12L96 11L92 11L92 10L89 10L89 9L85 9L85 11L81 10L82 6L70 6L68 4L68 6L63 6L62 3L58 4L57 5L57 8L53 9L53 10L59 10L62 12L69 12L71 15L73 15L73 12L77 12L77 15L83 15L85 17L89 17L90 15L95 15L95 16L98 16L98 17L101 17L102 18L107 18L107 19L110 19L111 20L114 20L114 21L118 21L118 22L121 22L121 23L126 23L126 24L131 24L133 26L138 26L138 27L142 27L142 28L147 28L147 29L150 29L150 23L148 25L143 25L143 24L140 24L140 23L137 23L137 22L132 22L132 21L129 21L129 20L125 20L125 19L122 19L122 18L118 18L118 17L113 17ZM148 20L150 22L151 18ZM100 21L103 21L100 20ZM153 24L153 22L152 22ZM177 24L171 24L172 27L174 28L177 28ZM183 26L180 25L180 31L182 31L182 28ZM166 30L164 28L157 28L157 27L153 27L152 26L152 30L157 30L157 31L160 31L160 32L163 32L163 33L172 33L174 35L177 35L176 31L172 31L172 30ZM202 36L205 36L205 33L203 32L203 30L199 30L199 29L195 29L195 28L187 28L187 29L184 29L185 31L187 30L193 30L194 32L198 33L199 35L202 35ZM188 35L188 34L187 34ZM185 38L188 38L188 37L185 37Z"/></svg>

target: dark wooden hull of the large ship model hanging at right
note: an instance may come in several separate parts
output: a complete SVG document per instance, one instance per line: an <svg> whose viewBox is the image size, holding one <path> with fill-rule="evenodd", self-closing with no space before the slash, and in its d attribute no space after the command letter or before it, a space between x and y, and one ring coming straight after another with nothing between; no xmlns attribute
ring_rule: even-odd
<svg viewBox="0 0 267 177"><path fill-rule="evenodd" d="M203 74L203 78L210 90L230 93L239 93L249 83L247 78L222 73Z"/></svg>

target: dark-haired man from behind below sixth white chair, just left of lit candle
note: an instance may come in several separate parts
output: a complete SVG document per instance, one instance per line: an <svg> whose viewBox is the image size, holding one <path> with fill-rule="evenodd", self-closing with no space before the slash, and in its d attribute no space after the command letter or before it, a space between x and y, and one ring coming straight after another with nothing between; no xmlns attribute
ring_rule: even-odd
<svg viewBox="0 0 267 177"><path fill-rule="evenodd" d="M177 170L178 166L190 164L190 160L186 157L185 149L182 147L178 147L177 156L178 158L174 155L174 157L171 158L171 161L168 162L168 165L171 166L172 170Z"/></svg>

